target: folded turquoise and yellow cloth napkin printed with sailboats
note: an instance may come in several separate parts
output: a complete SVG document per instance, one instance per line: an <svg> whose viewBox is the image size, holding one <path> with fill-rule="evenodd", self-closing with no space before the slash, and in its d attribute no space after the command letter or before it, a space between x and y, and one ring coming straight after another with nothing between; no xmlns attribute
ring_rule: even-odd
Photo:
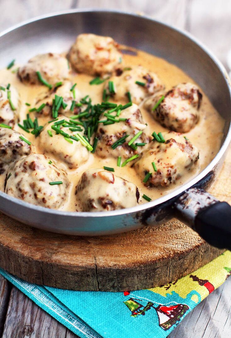
<svg viewBox="0 0 231 338"><path fill-rule="evenodd" d="M81 338L165 338L231 274L231 252L177 282L138 291L62 290L27 283L2 269L0 273Z"/></svg>

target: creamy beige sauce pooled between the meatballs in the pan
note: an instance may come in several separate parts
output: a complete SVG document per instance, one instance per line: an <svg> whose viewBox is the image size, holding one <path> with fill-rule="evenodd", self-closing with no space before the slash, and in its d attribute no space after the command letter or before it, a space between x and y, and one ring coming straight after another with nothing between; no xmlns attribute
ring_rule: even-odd
<svg viewBox="0 0 231 338"><path fill-rule="evenodd" d="M189 76L187 76L181 69L168 63L167 61L158 58L156 56L150 55L143 51L137 51L137 55L124 55L123 63L121 68L124 67L132 67L136 65L142 65L150 71L155 72L159 78L165 84L165 89L168 91L173 86L177 85L181 82L192 82L195 83ZM93 104L101 103L102 101L102 91L104 84L100 85L89 85L89 81L92 80L92 76L88 76L85 74L76 74L73 73L71 75L71 80L73 83L77 83L76 88L82 93L82 97L85 95L89 95L92 98ZM18 89L20 97L21 97L21 108L20 108L20 121L26 118L26 114L28 113L28 108L34 107L36 104L36 98L42 92L46 92L47 88L45 86L25 86L20 82L17 78L16 74L12 74L11 71L3 69L0 71L1 83L11 83L16 89ZM203 91L201 91L203 93ZM113 100L110 100L113 101ZM25 102L31 104L30 107L25 105ZM122 104L127 103L126 99L124 102L120 102ZM140 110L143 115L143 120L148 124L145 129L145 133L147 135L151 135L155 130L159 131L169 131L168 129L162 127L158 122L156 122L150 113L148 113L143 107L140 105ZM32 119L34 119L33 113L30 113ZM51 120L51 117L39 117L38 124L45 125L48 121ZM208 98L203 93L202 104L200 108L200 120L198 124L192 128L189 132L184 135L190 140L190 142L195 145L199 149L200 153L200 161L199 165L196 166L194 171L188 172L188 174L183 176L178 180L177 185L170 185L170 188L148 188L143 185L140 178L136 174L135 170L131 167L117 167L117 159L114 158L106 158L101 159L96 154L89 154L88 161L81 165L78 169L68 169L68 167L63 163L58 163L58 165L65 169L68 173L70 184L69 197L65 205L61 207L60 210L65 211L76 211L76 200L75 200L75 186L77 185L82 173L88 168L103 168L103 166L113 167L115 169L115 175L120 176L132 183L134 183L140 192L140 196L146 194L152 200L169 193L171 190L175 189L177 186L182 185L187 182L193 176L197 175L200 171L202 171L214 158L217 152L220 149L221 140L223 137L223 127L224 120L219 115L219 113L212 106ZM15 130L21 132L25 135L25 137L31 141L33 144L32 150L36 153L43 154L43 149L39 147L39 137L35 138L32 134L28 134L24 132L18 125L15 125ZM71 144L67 145L71 146ZM56 162L52 156L49 156L51 161ZM0 175L0 189L3 191L4 187L4 179L5 175ZM146 201L143 198L139 199L139 203L145 203Z"/></svg>

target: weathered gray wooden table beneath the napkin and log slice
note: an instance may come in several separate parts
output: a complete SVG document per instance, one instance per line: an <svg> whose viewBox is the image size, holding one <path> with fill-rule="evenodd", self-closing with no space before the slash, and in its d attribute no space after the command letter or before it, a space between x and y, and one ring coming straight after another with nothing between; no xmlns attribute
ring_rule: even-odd
<svg viewBox="0 0 231 338"><path fill-rule="evenodd" d="M0 4L0 31L34 16L69 8L119 8L148 14L194 34L227 67L227 53L231 49L229 0L0 0ZM227 332L231 332L231 279L188 314L169 338L223 338ZM0 276L0 337L77 336Z"/></svg>

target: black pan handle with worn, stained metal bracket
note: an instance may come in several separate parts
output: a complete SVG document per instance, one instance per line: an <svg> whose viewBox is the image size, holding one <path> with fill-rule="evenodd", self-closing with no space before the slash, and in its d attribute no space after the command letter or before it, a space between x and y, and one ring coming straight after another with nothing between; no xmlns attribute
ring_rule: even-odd
<svg viewBox="0 0 231 338"><path fill-rule="evenodd" d="M200 188L190 188L175 202L177 218L206 242L231 250L231 206Z"/></svg>

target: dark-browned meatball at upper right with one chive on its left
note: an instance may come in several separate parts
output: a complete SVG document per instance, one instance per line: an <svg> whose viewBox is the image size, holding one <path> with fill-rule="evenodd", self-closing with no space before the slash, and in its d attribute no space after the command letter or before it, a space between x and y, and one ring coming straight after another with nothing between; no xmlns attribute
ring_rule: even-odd
<svg viewBox="0 0 231 338"><path fill-rule="evenodd" d="M156 95L147 100L144 106L162 126L177 132L187 132L196 125L202 94L195 84L180 83L173 87L153 111L160 98L161 95Z"/></svg>

